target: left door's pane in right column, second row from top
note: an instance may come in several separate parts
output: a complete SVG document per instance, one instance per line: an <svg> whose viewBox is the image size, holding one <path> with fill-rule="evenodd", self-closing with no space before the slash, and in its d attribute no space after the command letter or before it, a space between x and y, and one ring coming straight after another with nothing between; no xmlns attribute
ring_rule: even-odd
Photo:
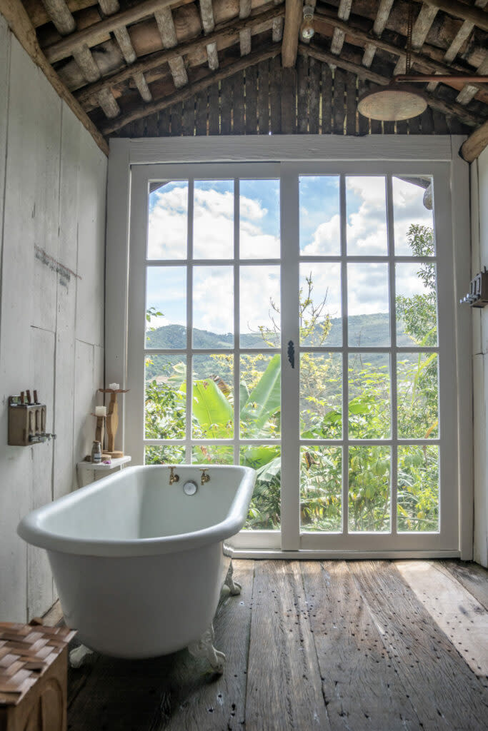
<svg viewBox="0 0 488 731"><path fill-rule="evenodd" d="M241 347L279 346L279 266L243 266L240 276Z"/></svg>

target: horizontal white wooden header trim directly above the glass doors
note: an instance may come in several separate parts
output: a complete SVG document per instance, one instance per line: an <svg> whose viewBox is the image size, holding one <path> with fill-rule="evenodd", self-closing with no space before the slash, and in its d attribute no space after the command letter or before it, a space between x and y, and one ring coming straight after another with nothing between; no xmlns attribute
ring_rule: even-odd
<svg viewBox="0 0 488 731"><path fill-rule="evenodd" d="M456 140L465 137L456 137ZM116 140L129 146L130 164L293 162L299 160L451 161L447 135L253 135ZM110 147L111 154L111 147Z"/></svg>

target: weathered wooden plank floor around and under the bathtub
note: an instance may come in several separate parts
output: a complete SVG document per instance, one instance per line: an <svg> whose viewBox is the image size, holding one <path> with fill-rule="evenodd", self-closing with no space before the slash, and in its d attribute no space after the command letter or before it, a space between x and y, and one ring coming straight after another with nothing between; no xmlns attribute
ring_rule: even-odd
<svg viewBox="0 0 488 731"><path fill-rule="evenodd" d="M486 731L488 572L461 561L234 561L222 676L91 656L70 731Z"/></svg>

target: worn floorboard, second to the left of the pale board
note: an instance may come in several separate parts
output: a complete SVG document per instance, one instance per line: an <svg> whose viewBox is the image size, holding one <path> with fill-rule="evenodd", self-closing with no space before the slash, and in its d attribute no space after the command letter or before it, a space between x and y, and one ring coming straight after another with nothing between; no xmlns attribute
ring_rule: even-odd
<svg viewBox="0 0 488 731"><path fill-rule="evenodd" d="M418 718L345 561L302 564L334 730L416 730Z"/></svg>

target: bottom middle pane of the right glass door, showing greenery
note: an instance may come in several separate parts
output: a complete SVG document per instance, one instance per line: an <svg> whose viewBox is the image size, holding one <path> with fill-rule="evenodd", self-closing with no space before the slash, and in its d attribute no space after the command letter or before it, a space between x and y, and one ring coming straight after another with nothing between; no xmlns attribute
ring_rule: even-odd
<svg viewBox="0 0 488 731"><path fill-rule="evenodd" d="M349 448L349 531L390 530L390 447Z"/></svg>

